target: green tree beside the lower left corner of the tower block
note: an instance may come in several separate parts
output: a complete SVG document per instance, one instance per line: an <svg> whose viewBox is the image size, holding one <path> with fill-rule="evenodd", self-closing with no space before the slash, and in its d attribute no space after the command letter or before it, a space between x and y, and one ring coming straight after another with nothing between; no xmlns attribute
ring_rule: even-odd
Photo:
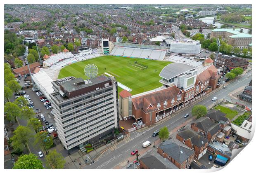
<svg viewBox="0 0 256 173"><path fill-rule="evenodd" d="M46 154L53 145L52 136L47 136L47 135L48 133L43 131L43 132L36 133L36 135L34 136L35 138L34 145L39 145L40 147L43 147Z"/></svg>

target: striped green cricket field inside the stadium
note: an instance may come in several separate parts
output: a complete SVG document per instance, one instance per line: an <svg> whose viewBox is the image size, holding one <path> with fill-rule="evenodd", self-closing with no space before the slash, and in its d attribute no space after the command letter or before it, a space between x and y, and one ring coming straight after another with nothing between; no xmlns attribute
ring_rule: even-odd
<svg viewBox="0 0 256 173"><path fill-rule="evenodd" d="M148 68L141 70L140 67L134 65L135 61L148 66ZM104 72L109 73L116 77L118 82L132 89L133 91L131 91L131 94L134 95L161 86L162 84L159 83L159 73L171 62L154 61L142 58L126 58L120 56L100 56L67 65L60 70L58 78L74 76L87 79L88 77L85 76L84 68L90 63L95 64L98 67L98 75L102 75ZM119 92L121 90L122 89L119 88Z"/></svg>

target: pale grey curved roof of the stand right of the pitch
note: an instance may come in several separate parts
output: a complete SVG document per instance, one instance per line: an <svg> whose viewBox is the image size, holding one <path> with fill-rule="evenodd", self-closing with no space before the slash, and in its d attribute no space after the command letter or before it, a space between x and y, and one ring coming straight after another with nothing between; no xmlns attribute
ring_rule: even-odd
<svg viewBox="0 0 256 173"><path fill-rule="evenodd" d="M171 79L192 69L195 69L195 67L192 65L187 65L184 63L171 63L162 69L159 76L165 79Z"/></svg>

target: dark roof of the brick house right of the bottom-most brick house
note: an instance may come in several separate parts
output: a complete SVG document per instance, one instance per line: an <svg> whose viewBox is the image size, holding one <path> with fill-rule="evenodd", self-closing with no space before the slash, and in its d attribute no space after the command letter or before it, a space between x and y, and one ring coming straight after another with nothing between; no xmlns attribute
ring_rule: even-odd
<svg viewBox="0 0 256 173"><path fill-rule="evenodd" d="M196 145L199 148L208 143L208 140L201 136L200 132L195 133L194 131L188 129L185 131L181 131L180 133L177 134L185 140L190 139L192 141L192 144Z"/></svg>

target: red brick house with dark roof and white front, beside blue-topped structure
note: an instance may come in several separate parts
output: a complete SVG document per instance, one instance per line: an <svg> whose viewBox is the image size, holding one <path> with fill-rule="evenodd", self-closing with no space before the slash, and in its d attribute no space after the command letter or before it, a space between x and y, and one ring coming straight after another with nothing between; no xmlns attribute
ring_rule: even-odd
<svg viewBox="0 0 256 173"><path fill-rule="evenodd" d="M207 151L208 140L200 132L184 130L177 133L176 138L194 150L194 159L200 159Z"/></svg>

